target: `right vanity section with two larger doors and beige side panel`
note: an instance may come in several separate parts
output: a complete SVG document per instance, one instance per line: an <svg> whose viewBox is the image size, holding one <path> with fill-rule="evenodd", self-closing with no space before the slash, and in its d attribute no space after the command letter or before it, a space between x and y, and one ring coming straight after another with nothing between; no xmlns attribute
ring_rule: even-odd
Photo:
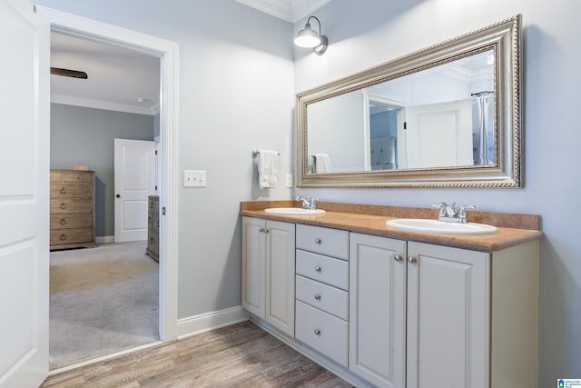
<svg viewBox="0 0 581 388"><path fill-rule="evenodd" d="M537 242L350 234L349 369L379 387L537 386Z"/></svg>

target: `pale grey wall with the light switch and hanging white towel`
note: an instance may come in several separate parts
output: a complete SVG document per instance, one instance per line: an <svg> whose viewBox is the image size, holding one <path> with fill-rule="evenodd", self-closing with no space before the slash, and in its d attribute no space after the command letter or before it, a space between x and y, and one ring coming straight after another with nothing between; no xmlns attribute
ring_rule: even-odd
<svg viewBox="0 0 581 388"><path fill-rule="evenodd" d="M59 11L180 45L178 317L241 304L240 201L291 196L292 25L232 0L38 0ZM253 148L281 153L279 187L261 190Z"/></svg>

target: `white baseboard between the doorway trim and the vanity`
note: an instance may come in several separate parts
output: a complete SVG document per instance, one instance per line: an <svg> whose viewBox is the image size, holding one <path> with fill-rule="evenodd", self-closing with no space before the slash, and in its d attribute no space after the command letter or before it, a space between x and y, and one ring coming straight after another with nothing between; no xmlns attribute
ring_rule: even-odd
<svg viewBox="0 0 581 388"><path fill-rule="evenodd" d="M241 306L182 318L178 320L178 340L249 319L250 314Z"/></svg>

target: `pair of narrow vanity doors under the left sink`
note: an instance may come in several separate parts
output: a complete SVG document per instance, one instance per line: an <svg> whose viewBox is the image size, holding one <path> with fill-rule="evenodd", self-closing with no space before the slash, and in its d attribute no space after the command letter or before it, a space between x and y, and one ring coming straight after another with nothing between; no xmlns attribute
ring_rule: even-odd
<svg viewBox="0 0 581 388"><path fill-rule="evenodd" d="M294 336L295 224L242 217L242 307Z"/></svg>

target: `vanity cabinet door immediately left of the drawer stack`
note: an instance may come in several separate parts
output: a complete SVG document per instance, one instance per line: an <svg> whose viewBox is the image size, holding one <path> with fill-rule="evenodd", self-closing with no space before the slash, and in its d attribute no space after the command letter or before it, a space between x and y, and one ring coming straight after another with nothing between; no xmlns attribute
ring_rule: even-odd
<svg viewBox="0 0 581 388"><path fill-rule="evenodd" d="M266 226L266 321L293 337L295 225Z"/></svg>

